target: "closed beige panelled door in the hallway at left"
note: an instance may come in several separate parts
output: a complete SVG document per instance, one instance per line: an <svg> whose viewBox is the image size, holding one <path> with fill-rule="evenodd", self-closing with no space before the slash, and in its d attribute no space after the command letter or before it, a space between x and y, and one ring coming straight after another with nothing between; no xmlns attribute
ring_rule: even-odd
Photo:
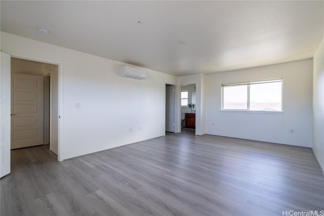
<svg viewBox="0 0 324 216"><path fill-rule="evenodd" d="M44 77L11 77L11 149L43 145Z"/></svg>

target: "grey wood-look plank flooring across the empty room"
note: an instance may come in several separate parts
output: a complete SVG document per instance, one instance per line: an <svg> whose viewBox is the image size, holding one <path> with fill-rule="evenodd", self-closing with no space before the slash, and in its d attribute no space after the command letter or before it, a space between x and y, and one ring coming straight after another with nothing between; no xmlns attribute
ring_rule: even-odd
<svg viewBox="0 0 324 216"><path fill-rule="evenodd" d="M1 179L1 215L324 210L324 177L311 149L193 133L62 162L48 146L12 150L11 174Z"/></svg>

